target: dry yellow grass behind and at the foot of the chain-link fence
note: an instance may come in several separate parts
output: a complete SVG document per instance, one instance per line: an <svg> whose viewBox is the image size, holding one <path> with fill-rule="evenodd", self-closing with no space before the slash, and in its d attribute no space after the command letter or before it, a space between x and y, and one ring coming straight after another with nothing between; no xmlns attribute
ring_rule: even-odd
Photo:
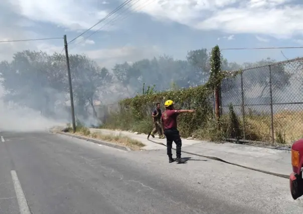
<svg viewBox="0 0 303 214"><path fill-rule="evenodd" d="M243 139L243 118L238 117ZM193 132L197 139L220 141L231 136L231 121L228 114L220 119L220 129L210 119L202 128ZM303 137L303 111L281 111L273 116L274 141L278 144L292 144ZM245 138L252 141L272 142L271 117L265 114L245 115Z"/></svg>

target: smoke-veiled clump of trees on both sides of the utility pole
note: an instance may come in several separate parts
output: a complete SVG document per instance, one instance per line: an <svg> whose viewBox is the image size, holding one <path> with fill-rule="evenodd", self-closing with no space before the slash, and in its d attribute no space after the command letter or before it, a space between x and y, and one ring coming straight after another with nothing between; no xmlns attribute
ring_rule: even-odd
<svg viewBox="0 0 303 214"><path fill-rule="evenodd" d="M84 55L70 55L70 68L75 97L76 111L79 116L87 116L87 106L91 106L94 117L94 99L97 92L107 91L112 75L106 68L100 68ZM12 62L0 63L5 100L25 105L52 117L55 103L65 103L69 90L66 59L55 53L23 51L14 55Z"/></svg>

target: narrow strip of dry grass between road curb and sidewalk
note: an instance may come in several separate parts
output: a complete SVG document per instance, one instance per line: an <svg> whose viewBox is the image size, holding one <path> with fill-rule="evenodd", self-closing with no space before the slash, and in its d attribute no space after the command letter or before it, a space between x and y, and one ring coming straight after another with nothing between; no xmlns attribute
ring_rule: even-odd
<svg viewBox="0 0 303 214"><path fill-rule="evenodd" d="M126 146L130 148L131 150L140 150L141 147L145 146L140 141L134 140L129 138L128 136L119 134L119 135L113 135L113 134L103 134L101 132L93 132L91 133L88 128L81 127L79 130L74 133L76 135L82 135L89 138L95 138L99 140L103 140L110 143L115 143L118 145Z"/></svg>

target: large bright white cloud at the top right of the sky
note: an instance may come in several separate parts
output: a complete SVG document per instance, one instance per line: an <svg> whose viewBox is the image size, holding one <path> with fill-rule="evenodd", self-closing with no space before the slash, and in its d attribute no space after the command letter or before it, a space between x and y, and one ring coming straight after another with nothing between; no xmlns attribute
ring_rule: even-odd
<svg viewBox="0 0 303 214"><path fill-rule="evenodd" d="M295 0L157 0L139 13L228 34L303 35L303 5Z"/></svg>

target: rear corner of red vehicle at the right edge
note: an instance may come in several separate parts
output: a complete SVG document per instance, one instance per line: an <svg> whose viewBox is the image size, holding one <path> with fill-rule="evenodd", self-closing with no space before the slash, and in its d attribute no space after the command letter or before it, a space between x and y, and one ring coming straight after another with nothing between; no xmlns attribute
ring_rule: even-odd
<svg viewBox="0 0 303 214"><path fill-rule="evenodd" d="M295 200L303 195L303 139L300 139L291 147L292 173L289 176L290 192Z"/></svg>

